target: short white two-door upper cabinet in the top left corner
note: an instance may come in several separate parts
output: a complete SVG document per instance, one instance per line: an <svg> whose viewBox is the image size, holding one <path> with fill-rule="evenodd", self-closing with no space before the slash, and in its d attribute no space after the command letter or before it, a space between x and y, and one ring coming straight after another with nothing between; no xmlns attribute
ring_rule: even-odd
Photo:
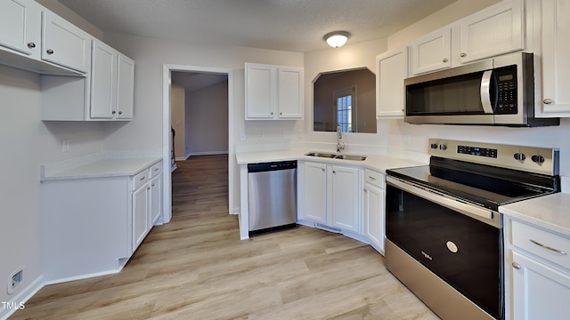
<svg viewBox="0 0 570 320"><path fill-rule="evenodd" d="M85 76L93 37L32 0L0 2L0 63L46 75Z"/></svg>

